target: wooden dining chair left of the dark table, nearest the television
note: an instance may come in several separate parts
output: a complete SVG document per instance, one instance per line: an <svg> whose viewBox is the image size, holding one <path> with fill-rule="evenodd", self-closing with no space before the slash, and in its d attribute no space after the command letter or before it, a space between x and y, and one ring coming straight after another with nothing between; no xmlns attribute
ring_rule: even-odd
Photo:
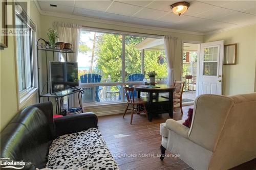
<svg viewBox="0 0 256 170"><path fill-rule="evenodd" d="M129 87L128 85L123 85L123 88L124 88L125 95L127 98L127 107L123 113L123 118L124 118L124 115L126 114L127 110L132 110L130 124L132 124L132 122L133 122L133 114L134 113L137 113L140 115L140 113L144 112L147 117L146 101L144 101L140 98L134 98L134 91L135 91L134 87ZM133 107L131 109L128 109L129 105L132 105Z"/></svg>

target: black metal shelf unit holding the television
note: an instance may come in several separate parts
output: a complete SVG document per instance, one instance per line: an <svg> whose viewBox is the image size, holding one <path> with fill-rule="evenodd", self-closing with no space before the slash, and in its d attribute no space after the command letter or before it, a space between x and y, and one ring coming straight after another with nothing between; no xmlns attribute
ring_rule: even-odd
<svg viewBox="0 0 256 170"><path fill-rule="evenodd" d="M40 44L39 44L40 43ZM79 99L79 105L81 106L81 98L82 98L82 94L84 93L83 89L80 90L75 90L75 91L70 91L67 90L67 94L65 95L57 95L57 94L50 94L50 90L49 90L49 82L48 82L48 74L49 74L49 70L48 70L48 53L47 52L52 52L53 54L53 60L55 61L55 54L59 54L59 61L61 58L61 54L63 54L63 56L66 57L66 61L68 61L68 54L71 53L75 53L72 50L58 50L56 48L48 48L47 47L47 41L45 39L39 38L37 40L36 43L36 48L37 48L37 81L38 81L38 100L39 103L41 103L41 98L47 98L49 101L49 98L54 98L55 99L55 108L56 108L56 113L60 113L61 112L61 107L63 107L63 97L64 96L69 96L70 94L74 94L76 92L78 92L78 99ZM40 67L39 67L39 52L45 52L45 62L46 62L46 83L44 84L44 86L42 87L42 89L40 89ZM42 61L42 60L41 60ZM50 61L50 60L49 60ZM42 94L44 87L46 86L47 88L47 92L45 94ZM60 98L60 101L58 100L58 98ZM68 98L68 102L69 102L69 98Z"/></svg>

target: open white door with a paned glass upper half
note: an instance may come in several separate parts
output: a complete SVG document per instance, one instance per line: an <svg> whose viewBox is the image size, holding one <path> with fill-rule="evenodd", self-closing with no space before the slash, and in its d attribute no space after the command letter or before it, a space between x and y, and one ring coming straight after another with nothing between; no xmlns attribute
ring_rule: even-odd
<svg viewBox="0 0 256 170"><path fill-rule="evenodd" d="M201 44L197 71L197 96L222 94L223 51L223 40Z"/></svg>

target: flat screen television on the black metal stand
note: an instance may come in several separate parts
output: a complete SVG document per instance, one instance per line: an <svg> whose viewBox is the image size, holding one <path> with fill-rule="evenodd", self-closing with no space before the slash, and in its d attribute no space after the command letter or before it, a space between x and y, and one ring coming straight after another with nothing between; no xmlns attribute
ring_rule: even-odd
<svg viewBox="0 0 256 170"><path fill-rule="evenodd" d="M50 61L49 69L51 94L79 85L77 62Z"/></svg>

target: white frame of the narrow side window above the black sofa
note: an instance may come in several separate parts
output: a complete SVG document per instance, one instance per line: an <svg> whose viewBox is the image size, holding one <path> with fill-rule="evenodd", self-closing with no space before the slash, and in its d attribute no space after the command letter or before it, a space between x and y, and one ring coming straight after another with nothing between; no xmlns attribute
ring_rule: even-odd
<svg viewBox="0 0 256 170"><path fill-rule="evenodd" d="M15 35L15 38L14 38L14 45L15 45L15 59L16 59L16 73L17 73L17 76L16 76L16 84L17 84L17 95L18 95L18 109L22 108L26 101L28 101L29 99L32 98L32 96L34 94L36 94L36 91L37 91L37 88L35 87L36 85L36 82L35 82L35 74L34 74L34 71L35 71L35 68L34 68L34 44L35 44L35 31L29 26L28 22L26 20L24 20L22 17L20 17L20 15L16 14L13 16L14 18L14 24L16 26L16 17L20 19L20 21L22 21L23 25L26 25L27 29L29 30L29 57L30 57L30 72L29 72L29 75L28 76L28 73L26 72L26 55L25 55L25 50L24 50L24 46L25 46L25 41L24 41L24 36L22 35L22 50L21 50L21 53L22 53L22 65L23 65L23 73L22 73L22 76L23 76L23 88L22 90L19 90L19 68L18 68L18 54L17 54L17 48L18 48L18 45L17 45L17 35ZM22 28L19 28L19 29L24 29L24 26ZM31 77L30 79L30 83L31 85L29 87L27 87L27 82L26 82L26 78L27 77Z"/></svg>

